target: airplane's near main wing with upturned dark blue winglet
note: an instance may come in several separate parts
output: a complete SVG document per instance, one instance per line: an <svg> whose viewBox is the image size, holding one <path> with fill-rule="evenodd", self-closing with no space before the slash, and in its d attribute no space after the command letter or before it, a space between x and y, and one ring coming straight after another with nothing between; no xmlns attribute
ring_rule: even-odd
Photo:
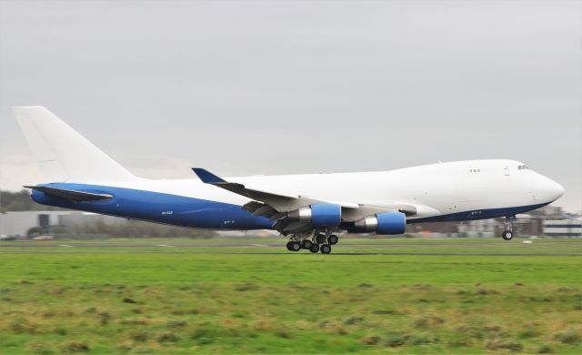
<svg viewBox="0 0 582 355"><path fill-rule="evenodd" d="M312 229L309 223L291 221L287 218L288 212L296 210L297 208L309 207L312 204L326 203L339 205L342 208L342 220L345 222L354 222L366 216L389 211L400 211L405 213L406 216L416 215L416 206L410 204L395 203L391 205L373 206L289 195L256 188L246 188L243 184L226 181L222 177L217 177L200 167L194 167L192 170L206 184L214 185L217 188L224 188L238 195L253 199L253 201L246 203L243 209L252 213L254 216L263 216L276 220L273 228L284 234L299 233Z"/></svg>

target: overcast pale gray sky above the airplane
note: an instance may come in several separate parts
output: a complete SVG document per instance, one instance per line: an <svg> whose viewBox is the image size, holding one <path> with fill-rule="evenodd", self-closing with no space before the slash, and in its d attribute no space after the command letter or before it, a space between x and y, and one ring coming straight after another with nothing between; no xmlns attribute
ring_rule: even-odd
<svg viewBox="0 0 582 355"><path fill-rule="evenodd" d="M579 1L0 1L2 188L29 105L143 177L514 158L582 209Z"/></svg>

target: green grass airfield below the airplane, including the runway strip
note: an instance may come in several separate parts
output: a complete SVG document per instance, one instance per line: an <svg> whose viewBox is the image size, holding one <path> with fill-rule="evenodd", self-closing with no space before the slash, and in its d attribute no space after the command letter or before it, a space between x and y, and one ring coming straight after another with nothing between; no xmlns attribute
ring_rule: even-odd
<svg viewBox="0 0 582 355"><path fill-rule="evenodd" d="M582 352L579 239L95 243L0 248L0 353Z"/></svg>

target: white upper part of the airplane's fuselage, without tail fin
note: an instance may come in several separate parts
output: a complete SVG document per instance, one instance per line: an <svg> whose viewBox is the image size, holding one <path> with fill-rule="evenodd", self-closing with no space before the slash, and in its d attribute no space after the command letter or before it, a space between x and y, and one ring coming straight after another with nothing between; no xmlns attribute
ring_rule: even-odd
<svg viewBox="0 0 582 355"><path fill-rule="evenodd" d="M523 167L523 168L522 168ZM228 177L247 188L372 206L416 206L408 220L550 203L564 189L515 160L467 160L391 171ZM102 183L244 205L250 199L193 179L137 179Z"/></svg>

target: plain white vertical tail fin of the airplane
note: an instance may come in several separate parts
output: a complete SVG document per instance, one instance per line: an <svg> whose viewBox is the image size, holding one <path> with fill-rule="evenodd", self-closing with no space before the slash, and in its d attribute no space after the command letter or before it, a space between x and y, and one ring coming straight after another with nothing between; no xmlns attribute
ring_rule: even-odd
<svg viewBox="0 0 582 355"><path fill-rule="evenodd" d="M105 182L136 177L43 106L14 107L47 182Z"/></svg>

